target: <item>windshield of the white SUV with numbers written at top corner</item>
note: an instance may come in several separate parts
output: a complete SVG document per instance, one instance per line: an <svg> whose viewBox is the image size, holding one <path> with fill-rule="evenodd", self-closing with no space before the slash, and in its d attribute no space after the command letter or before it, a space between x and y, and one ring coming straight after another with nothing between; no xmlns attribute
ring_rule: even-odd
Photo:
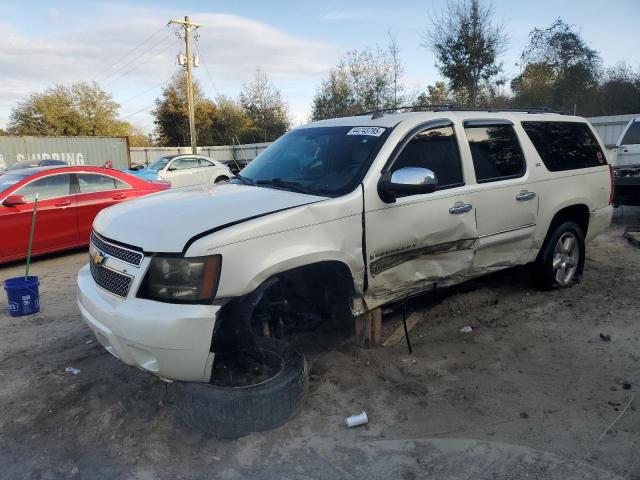
<svg viewBox="0 0 640 480"><path fill-rule="evenodd" d="M292 130L258 155L234 182L317 195L343 195L362 180L389 129L316 127Z"/></svg>

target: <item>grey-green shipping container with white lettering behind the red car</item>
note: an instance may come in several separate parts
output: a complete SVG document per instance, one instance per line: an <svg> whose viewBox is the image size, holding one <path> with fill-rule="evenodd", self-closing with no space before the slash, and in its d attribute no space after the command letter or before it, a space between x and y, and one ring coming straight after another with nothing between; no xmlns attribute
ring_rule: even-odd
<svg viewBox="0 0 640 480"><path fill-rule="evenodd" d="M0 170L23 160L64 160L70 165L129 167L126 137L0 137Z"/></svg>

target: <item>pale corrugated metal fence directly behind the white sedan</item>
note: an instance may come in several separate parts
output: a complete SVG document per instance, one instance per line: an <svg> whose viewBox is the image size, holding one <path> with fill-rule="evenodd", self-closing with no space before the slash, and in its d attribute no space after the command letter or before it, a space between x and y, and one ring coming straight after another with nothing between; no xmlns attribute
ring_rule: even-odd
<svg viewBox="0 0 640 480"><path fill-rule="evenodd" d="M222 145L215 147L198 147L200 155L230 163L233 160L250 162L266 149L271 143L250 143L246 145ZM184 155L191 153L191 147L132 147L131 163L147 165L166 155Z"/></svg>

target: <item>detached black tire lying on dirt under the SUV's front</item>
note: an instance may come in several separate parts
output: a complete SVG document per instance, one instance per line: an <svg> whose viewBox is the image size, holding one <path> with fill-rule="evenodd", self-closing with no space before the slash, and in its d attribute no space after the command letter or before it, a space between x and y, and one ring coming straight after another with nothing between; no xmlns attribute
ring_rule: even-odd
<svg viewBox="0 0 640 480"><path fill-rule="evenodd" d="M300 411L307 389L304 355L270 338L256 343L263 354L280 359L279 371L240 387L175 382L176 414L185 425L217 438L238 438L283 425Z"/></svg>

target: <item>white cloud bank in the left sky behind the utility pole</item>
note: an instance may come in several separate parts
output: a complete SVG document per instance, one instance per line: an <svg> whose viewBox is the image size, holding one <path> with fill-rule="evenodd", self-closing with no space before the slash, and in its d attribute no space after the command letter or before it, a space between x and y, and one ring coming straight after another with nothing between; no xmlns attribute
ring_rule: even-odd
<svg viewBox="0 0 640 480"><path fill-rule="evenodd" d="M17 101L58 83L96 80L116 100L129 100L122 105L123 116L150 105L159 84L179 68L176 55L184 50L175 26L165 27L172 13L102 4L72 15L65 12L63 22L52 8L46 17L56 23L55 29L30 35L0 23L0 126ZM201 66L196 77L211 95L235 96L259 65L276 85L314 85L308 86L304 98L310 104L315 84L340 55L329 43L237 15L195 13L192 19L204 25L197 31L195 53L201 56ZM300 98L291 100L302 104ZM145 123L150 124L148 118Z"/></svg>

